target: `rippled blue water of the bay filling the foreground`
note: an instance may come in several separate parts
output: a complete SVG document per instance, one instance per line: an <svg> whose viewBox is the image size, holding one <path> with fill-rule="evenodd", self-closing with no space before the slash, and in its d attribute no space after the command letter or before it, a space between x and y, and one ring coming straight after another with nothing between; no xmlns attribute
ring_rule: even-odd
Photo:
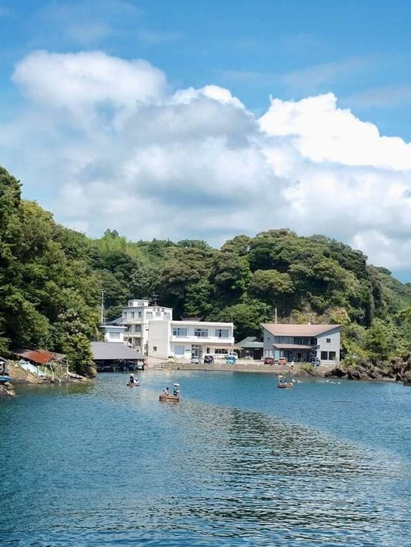
<svg viewBox="0 0 411 547"><path fill-rule="evenodd" d="M126 378L0 400L0 545L410 545L411 388Z"/></svg>

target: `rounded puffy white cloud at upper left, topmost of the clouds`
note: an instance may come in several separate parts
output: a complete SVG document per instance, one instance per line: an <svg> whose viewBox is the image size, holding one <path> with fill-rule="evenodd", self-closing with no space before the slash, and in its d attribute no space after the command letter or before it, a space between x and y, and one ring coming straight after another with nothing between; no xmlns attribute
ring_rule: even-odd
<svg viewBox="0 0 411 547"><path fill-rule="evenodd" d="M165 76L147 61L125 61L101 51L34 51L16 67L13 81L44 106L79 110L111 104L133 106L159 98Z"/></svg>

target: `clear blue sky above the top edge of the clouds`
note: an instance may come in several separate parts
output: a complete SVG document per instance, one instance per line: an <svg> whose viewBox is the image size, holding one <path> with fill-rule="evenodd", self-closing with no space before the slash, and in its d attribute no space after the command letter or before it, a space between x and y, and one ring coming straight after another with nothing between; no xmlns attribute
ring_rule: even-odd
<svg viewBox="0 0 411 547"><path fill-rule="evenodd" d="M255 112L269 94L333 91L385 135L411 140L408 1L0 3L2 91L32 49L142 57L176 87L229 86Z"/></svg>

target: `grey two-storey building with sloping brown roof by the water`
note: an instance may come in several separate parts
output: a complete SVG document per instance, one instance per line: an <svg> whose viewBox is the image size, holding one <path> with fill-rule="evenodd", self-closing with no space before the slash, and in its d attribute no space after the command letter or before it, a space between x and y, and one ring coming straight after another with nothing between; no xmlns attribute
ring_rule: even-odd
<svg viewBox="0 0 411 547"><path fill-rule="evenodd" d="M341 325L296 325L263 323L264 357L288 362L309 363L313 358L323 364L340 360Z"/></svg>

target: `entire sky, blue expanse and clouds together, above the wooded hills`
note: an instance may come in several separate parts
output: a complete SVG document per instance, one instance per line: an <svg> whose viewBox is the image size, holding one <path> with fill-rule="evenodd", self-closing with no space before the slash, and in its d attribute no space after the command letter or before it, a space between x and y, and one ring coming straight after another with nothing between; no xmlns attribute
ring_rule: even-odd
<svg viewBox="0 0 411 547"><path fill-rule="evenodd" d="M411 3L0 0L0 164L98 237L289 227L411 281Z"/></svg>

